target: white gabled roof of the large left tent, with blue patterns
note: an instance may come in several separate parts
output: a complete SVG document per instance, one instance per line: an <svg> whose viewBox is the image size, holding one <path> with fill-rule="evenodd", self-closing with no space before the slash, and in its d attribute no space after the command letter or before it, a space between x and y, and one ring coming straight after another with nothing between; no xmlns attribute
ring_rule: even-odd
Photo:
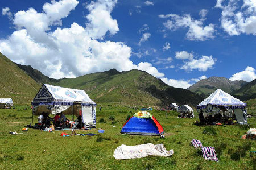
<svg viewBox="0 0 256 170"><path fill-rule="evenodd" d="M62 102L62 103L61 103ZM33 99L33 105L72 105L74 102L96 105L84 90L43 84Z"/></svg>

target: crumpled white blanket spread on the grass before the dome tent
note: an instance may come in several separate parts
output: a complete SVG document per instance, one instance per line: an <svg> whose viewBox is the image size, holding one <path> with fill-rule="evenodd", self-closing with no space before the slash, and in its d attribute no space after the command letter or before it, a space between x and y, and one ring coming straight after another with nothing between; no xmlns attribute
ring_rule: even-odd
<svg viewBox="0 0 256 170"><path fill-rule="evenodd" d="M153 156L171 156L174 154L174 150L167 151L163 144L140 144L135 146L127 146L122 144L114 151L115 159L135 159L146 157L148 155Z"/></svg>

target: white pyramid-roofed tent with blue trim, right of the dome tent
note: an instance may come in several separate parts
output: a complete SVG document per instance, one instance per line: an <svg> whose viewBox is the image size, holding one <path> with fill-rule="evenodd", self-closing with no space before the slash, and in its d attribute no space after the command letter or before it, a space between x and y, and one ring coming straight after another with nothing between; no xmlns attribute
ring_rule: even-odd
<svg viewBox="0 0 256 170"><path fill-rule="evenodd" d="M204 99L203 102L199 103L197 109L202 110L204 117L209 117L209 115L214 116L218 113L221 113L222 117L224 115L226 117L233 117L234 113L237 122L242 124L247 123L246 106L246 103L221 89L217 89L209 97Z"/></svg>

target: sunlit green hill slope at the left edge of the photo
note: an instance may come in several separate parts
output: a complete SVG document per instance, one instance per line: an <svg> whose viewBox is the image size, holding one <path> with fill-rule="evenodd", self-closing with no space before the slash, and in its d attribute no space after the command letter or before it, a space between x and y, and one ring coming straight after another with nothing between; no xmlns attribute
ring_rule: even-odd
<svg viewBox="0 0 256 170"><path fill-rule="evenodd" d="M0 98L12 98L14 105L30 103L40 86L0 52Z"/></svg>

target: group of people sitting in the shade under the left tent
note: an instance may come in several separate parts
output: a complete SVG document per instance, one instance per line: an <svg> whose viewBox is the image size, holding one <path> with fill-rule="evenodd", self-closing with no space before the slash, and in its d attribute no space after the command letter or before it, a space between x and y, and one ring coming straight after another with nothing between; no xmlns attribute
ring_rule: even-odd
<svg viewBox="0 0 256 170"><path fill-rule="evenodd" d="M38 124L36 125L38 128L43 130L46 127L51 126L51 121L52 125L54 128L57 130L58 128L71 128L72 129L72 134L76 133L75 128L80 128L82 123L82 117L81 115L76 119L75 121L71 121L65 117L65 114L63 113L57 113L53 119L49 117L48 113L43 112L41 115L38 117ZM83 125L82 125L83 127Z"/></svg>

